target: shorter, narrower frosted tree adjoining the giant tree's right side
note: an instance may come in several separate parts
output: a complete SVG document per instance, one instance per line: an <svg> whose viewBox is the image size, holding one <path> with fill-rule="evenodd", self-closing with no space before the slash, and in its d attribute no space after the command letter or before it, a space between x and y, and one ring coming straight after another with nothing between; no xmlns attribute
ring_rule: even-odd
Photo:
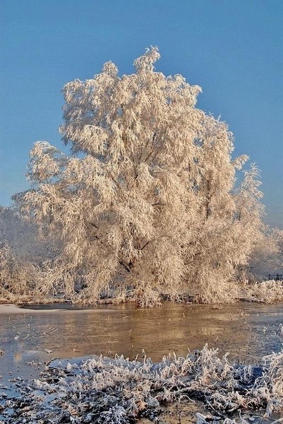
<svg viewBox="0 0 283 424"><path fill-rule="evenodd" d="M200 209L188 246L187 281L201 301L228 301L236 295L236 269L246 261L246 250L239 249L233 190L235 169L241 168L247 156L231 160L233 139L224 122L205 117L200 124L195 140L200 150L195 185Z"/></svg>

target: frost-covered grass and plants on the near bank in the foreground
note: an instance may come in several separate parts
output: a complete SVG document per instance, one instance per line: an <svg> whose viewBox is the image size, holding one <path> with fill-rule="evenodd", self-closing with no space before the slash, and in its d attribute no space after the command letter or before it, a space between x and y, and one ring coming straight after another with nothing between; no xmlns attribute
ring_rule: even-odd
<svg viewBox="0 0 283 424"><path fill-rule="evenodd" d="M123 356L57 360L40 379L19 381L18 389L20 396L2 411L7 424L158 422L162 405L193 399L210 408L218 423L244 423L243 411L253 416L258 408L266 418L282 417L283 351L263 357L257 367L230 363L207 346L155 364Z"/></svg>

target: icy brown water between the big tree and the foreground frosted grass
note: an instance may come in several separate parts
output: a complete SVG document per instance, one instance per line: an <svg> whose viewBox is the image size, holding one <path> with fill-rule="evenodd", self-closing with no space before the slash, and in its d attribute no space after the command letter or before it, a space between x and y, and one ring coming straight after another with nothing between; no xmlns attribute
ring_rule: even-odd
<svg viewBox="0 0 283 424"><path fill-rule="evenodd" d="M183 305L138 309L101 305L93 309L45 305L0 305L0 394L13 392L17 377L37 378L53 358L91 354L130 359L146 353L159 361L188 348L219 348L230 358L255 364L282 347L283 304ZM1 353L3 351L3 353ZM8 387L4 389L4 387ZM12 390L11 390L12 389Z"/></svg>

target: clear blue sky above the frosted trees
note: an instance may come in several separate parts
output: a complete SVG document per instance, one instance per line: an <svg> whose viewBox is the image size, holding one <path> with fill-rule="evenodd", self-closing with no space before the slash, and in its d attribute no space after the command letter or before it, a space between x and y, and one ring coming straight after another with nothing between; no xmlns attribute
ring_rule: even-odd
<svg viewBox="0 0 283 424"><path fill-rule="evenodd" d="M61 88L157 45L157 70L203 88L262 170L267 223L283 228L282 0L1 0L0 204L28 188L37 140L61 148Z"/></svg>

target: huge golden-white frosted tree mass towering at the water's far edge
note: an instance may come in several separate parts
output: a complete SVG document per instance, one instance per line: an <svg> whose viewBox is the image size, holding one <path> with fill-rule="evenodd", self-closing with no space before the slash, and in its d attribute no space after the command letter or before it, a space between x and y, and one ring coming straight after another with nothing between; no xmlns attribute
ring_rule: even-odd
<svg viewBox="0 0 283 424"><path fill-rule="evenodd" d="M47 290L88 302L128 290L142 305L232 295L250 252L232 194L245 158L231 160L227 125L195 107L200 88L156 72L157 59L154 47L132 75L108 62L66 84L60 131L71 155L45 141L30 153L32 189L16 200L63 246L46 264Z"/></svg>

